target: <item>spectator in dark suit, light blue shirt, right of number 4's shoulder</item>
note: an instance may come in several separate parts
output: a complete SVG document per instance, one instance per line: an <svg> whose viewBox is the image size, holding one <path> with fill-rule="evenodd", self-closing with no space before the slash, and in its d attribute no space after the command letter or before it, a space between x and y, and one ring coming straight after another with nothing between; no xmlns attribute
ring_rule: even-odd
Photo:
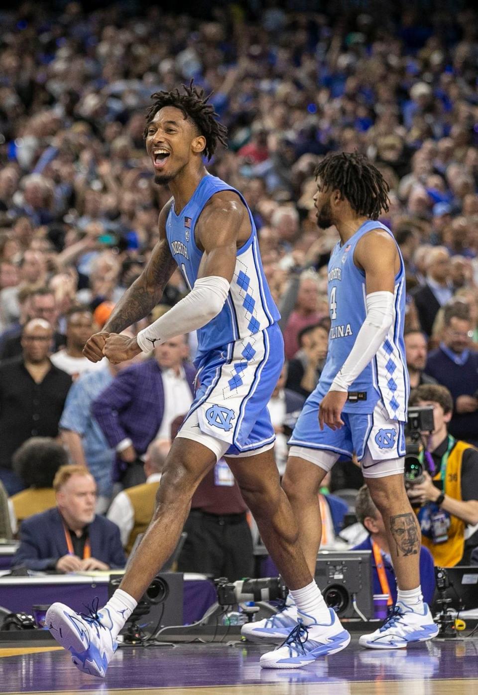
<svg viewBox="0 0 478 695"><path fill-rule="evenodd" d="M431 336L438 309L449 302L453 296L450 273L450 253L445 246L435 247L429 253L427 282L412 293L420 325L427 336Z"/></svg>

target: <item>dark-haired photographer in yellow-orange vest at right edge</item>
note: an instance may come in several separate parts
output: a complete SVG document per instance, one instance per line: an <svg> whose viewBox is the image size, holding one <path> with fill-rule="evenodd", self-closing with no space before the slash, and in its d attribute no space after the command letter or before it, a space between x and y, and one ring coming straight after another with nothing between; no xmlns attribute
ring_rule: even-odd
<svg viewBox="0 0 478 695"><path fill-rule="evenodd" d="M478 533L472 528L478 524L478 451L448 434L453 401L445 386L418 386L409 404L434 409L434 431L422 455L431 471L425 470L423 480L408 489L422 543L437 566L470 564L472 549L478 545Z"/></svg>

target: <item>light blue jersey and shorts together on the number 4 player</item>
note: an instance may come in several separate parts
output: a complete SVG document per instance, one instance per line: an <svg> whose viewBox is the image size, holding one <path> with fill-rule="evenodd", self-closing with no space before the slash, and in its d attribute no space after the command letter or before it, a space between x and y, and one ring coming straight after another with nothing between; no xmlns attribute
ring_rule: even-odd
<svg viewBox="0 0 478 695"><path fill-rule="evenodd" d="M333 465L307 450L322 450L336 457L356 453L362 461L363 475L392 475L401 472L393 461L405 454L404 423L409 400L409 376L404 345L405 271L402 256L395 277L393 323L377 354L349 386L349 394L358 392L362 400L347 400L343 407L343 427L320 430L320 402L327 395L333 379L349 357L358 332L367 316L365 273L354 263L358 240L372 229L390 229L374 220L362 224L347 243L338 243L329 261L329 312L331 329L329 349L319 383L309 395L289 440L290 456L302 457L329 470ZM304 453L305 452L305 453ZM368 452L368 453L367 453ZM370 461L367 460L370 456ZM381 466L377 468L377 464ZM402 466L402 464L400 464ZM369 470L370 469L370 470Z"/></svg>

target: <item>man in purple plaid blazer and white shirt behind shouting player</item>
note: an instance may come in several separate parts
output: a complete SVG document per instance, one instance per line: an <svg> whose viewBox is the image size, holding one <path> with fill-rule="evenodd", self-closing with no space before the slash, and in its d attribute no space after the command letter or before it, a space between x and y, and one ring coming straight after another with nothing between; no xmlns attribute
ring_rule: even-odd
<svg viewBox="0 0 478 695"><path fill-rule="evenodd" d="M186 363L186 336L171 338L148 359L122 370L92 404L106 441L117 452L115 480L145 482L142 457L153 439L170 439L171 423L188 412L195 369Z"/></svg>

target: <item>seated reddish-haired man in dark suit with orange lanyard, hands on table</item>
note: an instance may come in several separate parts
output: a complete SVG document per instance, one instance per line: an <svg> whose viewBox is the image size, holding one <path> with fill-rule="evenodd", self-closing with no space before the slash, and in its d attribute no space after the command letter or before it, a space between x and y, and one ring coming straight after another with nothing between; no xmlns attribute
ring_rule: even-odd
<svg viewBox="0 0 478 695"><path fill-rule="evenodd" d="M62 466L53 480L56 507L22 523L14 564L78 572L124 567L119 528L94 506L97 486L83 466Z"/></svg>

